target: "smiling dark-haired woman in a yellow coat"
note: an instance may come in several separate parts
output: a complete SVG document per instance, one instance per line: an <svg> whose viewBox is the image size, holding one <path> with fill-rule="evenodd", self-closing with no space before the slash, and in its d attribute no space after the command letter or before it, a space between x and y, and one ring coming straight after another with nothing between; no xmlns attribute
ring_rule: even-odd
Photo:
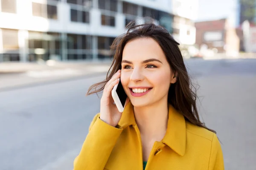
<svg viewBox="0 0 256 170"><path fill-rule="evenodd" d="M131 23L114 40L111 73L87 93L103 91L100 113L74 170L224 170L215 131L199 120L178 45L153 23ZM111 97L119 78L128 95L122 113Z"/></svg>

